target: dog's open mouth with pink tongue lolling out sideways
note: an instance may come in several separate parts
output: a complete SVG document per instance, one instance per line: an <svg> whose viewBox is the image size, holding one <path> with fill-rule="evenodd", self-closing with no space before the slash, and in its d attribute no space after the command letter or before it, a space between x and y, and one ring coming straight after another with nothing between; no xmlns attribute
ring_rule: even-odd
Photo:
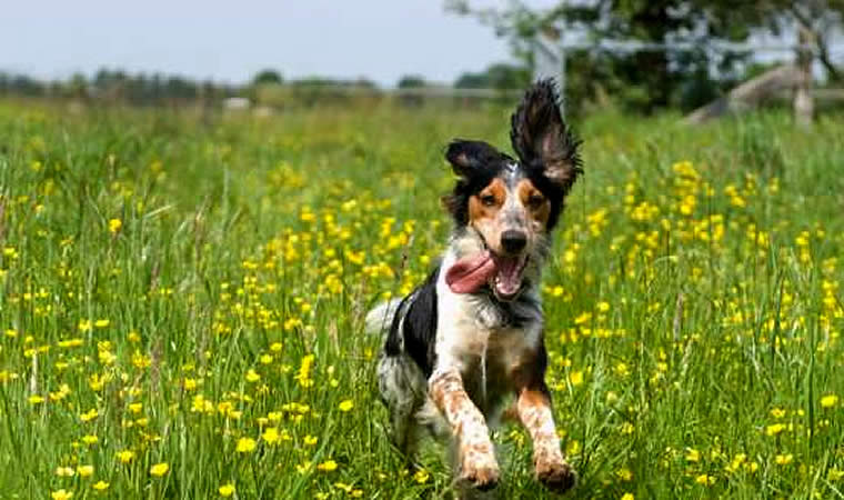
<svg viewBox="0 0 844 500"><path fill-rule="evenodd" d="M522 289L528 254L498 256L484 250L463 258L445 271L445 283L455 293L474 293L489 284L499 300L513 300Z"/></svg>

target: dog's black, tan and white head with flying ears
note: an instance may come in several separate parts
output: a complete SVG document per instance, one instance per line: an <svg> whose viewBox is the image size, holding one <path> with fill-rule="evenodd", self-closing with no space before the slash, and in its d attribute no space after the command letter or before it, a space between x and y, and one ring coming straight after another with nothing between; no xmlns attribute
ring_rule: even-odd
<svg viewBox="0 0 844 500"><path fill-rule="evenodd" d="M445 152L459 178L445 207L458 227L474 230L485 247L485 257L461 264L484 270L474 280L460 280L469 276L461 274L464 268L449 271L453 290L473 291L483 278L499 299L514 298L582 172L580 141L560 116L551 80L525 92L513 113L510 138L518 160L482 141L454 140Z"/></svg>

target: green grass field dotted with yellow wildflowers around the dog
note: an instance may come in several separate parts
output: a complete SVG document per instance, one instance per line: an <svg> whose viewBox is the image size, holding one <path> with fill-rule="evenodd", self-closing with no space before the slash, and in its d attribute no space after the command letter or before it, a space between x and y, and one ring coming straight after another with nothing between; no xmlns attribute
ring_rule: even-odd
<svg viewBox="0 0 844 500"><path fill-rule="evenodd" d="M444 144L508 113L0 104L0 498L449 498L389 444L362 319L443 247ZM842 497L844 121L576 129L543 283L569 498ZM550 496L495 440L502 498Z"/></svg>

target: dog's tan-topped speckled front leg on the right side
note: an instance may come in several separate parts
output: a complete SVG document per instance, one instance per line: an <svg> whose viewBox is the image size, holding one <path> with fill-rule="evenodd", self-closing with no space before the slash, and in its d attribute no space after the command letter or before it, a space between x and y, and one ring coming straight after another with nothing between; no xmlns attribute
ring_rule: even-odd
<svg viewBox="0 0 844 500"><path fill-rule="evenodd" d="M519 392L516 411L519 420L533 440L533 467L536 479L553 490L569 490L574 486L576 476L560 449L560 438L556 436L545 383L523 388Z"/></svg>

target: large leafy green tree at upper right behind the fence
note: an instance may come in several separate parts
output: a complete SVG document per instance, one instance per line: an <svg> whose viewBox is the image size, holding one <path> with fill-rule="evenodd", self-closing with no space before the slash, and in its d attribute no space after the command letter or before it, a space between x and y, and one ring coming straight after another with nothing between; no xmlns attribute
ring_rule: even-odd
<svg viewBox="0 0 844 500"><path fill-rule="evenodd" d="M591 76L584 82L587 88L577 91L594 94L603 89L633 108L652 111L680 103L683 96L699 98L731 84L748 54L725 48L723 42L745 41L754 32L783 29L806 17L830 32L831 26L841 23L842 3L844 0L570 0L532 9L514 0L504 9L474 9L470 0L448 0L446 8L491 26L528 64L532 64L532 43L540 33L591 44L592 49L566 61L573 60ZM602 50L600 42L607 39L620 41L622 49L624 42L644 43L645 50ZM827 40L816 38L817 52L826 59ZM684 48L661 49L672 43ZM835 68L830 67L835 76ZM566 92L570 88L566 82Z"/></svg>

